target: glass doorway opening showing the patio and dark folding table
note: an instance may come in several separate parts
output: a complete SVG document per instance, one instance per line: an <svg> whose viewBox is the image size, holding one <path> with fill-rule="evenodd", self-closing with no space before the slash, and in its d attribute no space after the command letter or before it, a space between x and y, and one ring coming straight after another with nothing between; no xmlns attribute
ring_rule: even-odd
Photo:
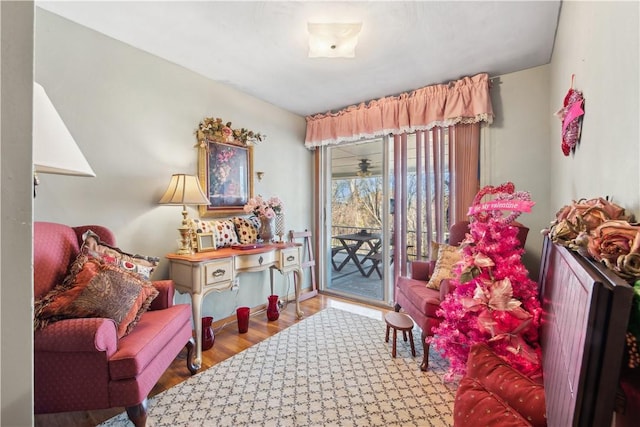
<svg viewBox="0 0 640 427"><path fill-rule="evenodd" d="M392 188L389 142L377 138L326 147L326 293L367 303L390 301Z"/></svg>

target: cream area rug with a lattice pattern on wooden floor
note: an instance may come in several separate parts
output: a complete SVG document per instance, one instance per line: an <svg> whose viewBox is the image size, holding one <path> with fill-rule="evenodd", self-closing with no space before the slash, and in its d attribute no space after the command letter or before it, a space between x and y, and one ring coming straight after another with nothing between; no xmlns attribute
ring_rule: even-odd
<svg viewBox="0 0 640 427"><path fill-rule="evenodd" d="M148 426L450 426L456 384L385 324L327 308L149 399ZM132 425L122 413L103 427Z"/></svg>

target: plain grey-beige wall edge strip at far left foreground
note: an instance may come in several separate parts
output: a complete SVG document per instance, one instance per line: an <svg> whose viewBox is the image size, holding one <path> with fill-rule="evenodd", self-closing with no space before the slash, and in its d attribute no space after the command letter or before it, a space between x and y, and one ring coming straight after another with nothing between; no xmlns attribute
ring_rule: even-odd
<svg viewBox="0 0 640 427"><path fill-rule="evenodd" d="M33 423L33 2L0 2L0 425Z"/></svg>

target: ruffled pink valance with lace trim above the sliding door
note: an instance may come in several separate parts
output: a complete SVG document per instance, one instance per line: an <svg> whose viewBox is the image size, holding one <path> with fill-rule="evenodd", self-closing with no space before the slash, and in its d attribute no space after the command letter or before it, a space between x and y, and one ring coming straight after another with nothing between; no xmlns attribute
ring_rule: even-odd
<svg viewBox="0 0 640 427"><path fill-rule="evenodd" d="M484 73L363 102L337 113L307 116L305 146L314 148L481 121L493 121L489 76Z"/></svg>

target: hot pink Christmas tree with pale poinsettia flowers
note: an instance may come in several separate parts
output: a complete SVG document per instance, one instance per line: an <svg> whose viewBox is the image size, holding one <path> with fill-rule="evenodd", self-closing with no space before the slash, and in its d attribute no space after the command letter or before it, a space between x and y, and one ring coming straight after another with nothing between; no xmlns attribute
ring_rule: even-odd
<svg viewBox="0 0 640 427"><path fill-rule="evenodd" d="M483 201L493 196L493 200ZM529 193L512 183L484 187L469 209L470 232L460 245L455 290L440 304L444 319L430 339L449 360L447 379L463 375L469 349L486 343L525 375L541 375L538 285L522 264L518 227L512 222L530 211ZM504 211L512 213L505 216Z"/></svg>

